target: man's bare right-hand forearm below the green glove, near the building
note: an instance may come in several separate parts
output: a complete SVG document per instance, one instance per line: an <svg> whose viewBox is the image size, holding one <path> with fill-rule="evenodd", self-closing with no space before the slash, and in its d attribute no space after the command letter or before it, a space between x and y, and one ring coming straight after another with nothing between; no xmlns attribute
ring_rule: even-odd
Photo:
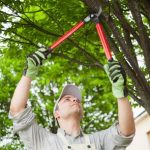
<svg viewBox="0 0 150 150"><path fill-rule="evenodd" d="M135 133L133 112L131 104L126 97L118 99L118 116L121 133L125 136Z"/></svg>

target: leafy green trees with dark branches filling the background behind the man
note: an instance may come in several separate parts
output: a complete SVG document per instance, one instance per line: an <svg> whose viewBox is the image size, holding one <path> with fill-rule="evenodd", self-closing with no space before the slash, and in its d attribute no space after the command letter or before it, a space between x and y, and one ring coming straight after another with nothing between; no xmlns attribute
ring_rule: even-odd
<svg viewBox="0 0 150 150"><path fill-rule="evenodd" d="M113 0L102 4L100 21L114 56L128 75L132 104L138 103L150 114L150 2ZM88 13L80 0L0 1L0 140L8 141L0 149L23 149L18 136L12 135L8 112L26 56L50 46ZM117 119L117 102L103 70L105 63L95 24L90 22L56 48L33 81L29 105L37 122L56 132L54 102L62 87L73 83L83 93L84 132L109 127Z"/></svg>

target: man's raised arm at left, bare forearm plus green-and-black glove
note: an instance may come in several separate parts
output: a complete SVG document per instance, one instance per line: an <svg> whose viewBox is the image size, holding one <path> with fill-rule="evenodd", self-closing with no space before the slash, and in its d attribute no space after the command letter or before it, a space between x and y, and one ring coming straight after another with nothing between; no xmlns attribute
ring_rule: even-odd
<svg viewBox="0 0 150 150"><path fill-rule="evenodd" d="M49 54L48 50L41 48L27 57L23 76L15 89L10 104L10 112L13 116L24 110L29 97L31 81L36 77L39 67Z"/></svg>

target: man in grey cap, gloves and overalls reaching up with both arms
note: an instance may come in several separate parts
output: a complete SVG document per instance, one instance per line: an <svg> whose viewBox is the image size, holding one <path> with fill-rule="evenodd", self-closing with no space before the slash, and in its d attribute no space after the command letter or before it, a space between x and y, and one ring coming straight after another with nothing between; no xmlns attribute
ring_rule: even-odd
<svg viewBox="0 0 150 150"><path fill-rule="evenodd" d="M135 125L131 105L127 99L126 76L118 62L105 65L105 71L112 83L112 91L118 102L118 122L110 128L85 135L80 127L83 117L81 93L75 85L66 85L54 107L54 116L60 128L57 134L38 126L30 107L26 107L31 81L38 74L48 51L40 49L27 57L24 75L14 92L10 117L14 132L32 150L125 150L131 143Z"/></svg>

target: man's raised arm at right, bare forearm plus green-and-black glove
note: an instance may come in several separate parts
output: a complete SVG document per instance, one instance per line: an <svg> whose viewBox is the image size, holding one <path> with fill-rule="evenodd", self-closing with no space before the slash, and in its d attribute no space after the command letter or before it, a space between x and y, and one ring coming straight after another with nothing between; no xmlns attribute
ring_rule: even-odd
<svg viewBox="0 0 150 150"><path fill-rule="evenodd" d="M128 101L126 88L126 74L117 61L109 62L104 69L112 84L113 95L118 101L119 130L122 135L129 136L135 133L133 112Z"/></svg>

